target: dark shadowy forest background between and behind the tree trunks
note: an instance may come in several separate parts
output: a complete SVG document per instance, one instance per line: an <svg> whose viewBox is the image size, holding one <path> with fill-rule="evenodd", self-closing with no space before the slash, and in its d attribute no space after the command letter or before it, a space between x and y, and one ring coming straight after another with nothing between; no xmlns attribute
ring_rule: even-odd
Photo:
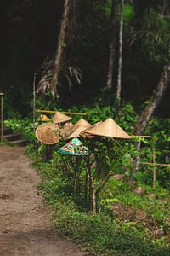
<svg viewBox="0 0 170 256"><path fill-rule="evenodd" d="M65 109L76 104L90 104L96 97L103 97L110 57L111 1L77 0L75 3L59 80L59 102ZM33 76L37 73L38 86L43 61L54 58L63 7L63 0L1 1L0 90L5 93L8 110L14 109L22 115L31 110ZM122 102L133 102L137 112L150 99L169 58L169 15L169 1L125 1ZM118 1L113 96L119 57L119 20ZM72 66L81 70L81 84L74 78L69 84L66 79L66 68ZM104 97L107 102L109 96ZM156 110L157 116L169 117L169 99L168 87Z"/></svg>

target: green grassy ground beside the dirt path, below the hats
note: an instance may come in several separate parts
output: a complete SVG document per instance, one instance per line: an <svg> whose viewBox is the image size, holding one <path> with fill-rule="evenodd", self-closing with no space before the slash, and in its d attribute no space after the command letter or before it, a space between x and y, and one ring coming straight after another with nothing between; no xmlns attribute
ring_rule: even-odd
<svg viewBox="0 0 170 256"><path fill-rule="evenodd" d="M63 175L59 155L47 163L31 149L29 154L33 166L42 175L39 193L53 209L56 230L81 241L96 255L169 255L168 199L163 201L158 196L150 200L133 195L123 183L110 181L103 193L100 212L94 215L82 207L83 203L77 205L71 184ZM108 196L111 189L112 197ZM163 229L164 235L156 237L156 229Z"/></svg>

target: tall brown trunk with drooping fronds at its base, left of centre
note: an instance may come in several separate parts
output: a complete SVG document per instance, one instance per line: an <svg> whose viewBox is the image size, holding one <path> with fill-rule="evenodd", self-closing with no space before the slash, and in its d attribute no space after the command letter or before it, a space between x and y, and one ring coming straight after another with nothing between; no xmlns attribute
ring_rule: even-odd
<svg viewBox="0 0 170 256"><path fill-rule="evenodd" d="M65 0L63 17L61 20L61 26L60 26L60 32L59 32L59 42L58 42L57 51L54 59L53 74L51 79L51 95L53 98L59 97L59 92L58 92L59 73L60 73L63 50L65 47L65 35L66 35L66 28L68 26L68 14L69 14L69 0Z"/></svg>

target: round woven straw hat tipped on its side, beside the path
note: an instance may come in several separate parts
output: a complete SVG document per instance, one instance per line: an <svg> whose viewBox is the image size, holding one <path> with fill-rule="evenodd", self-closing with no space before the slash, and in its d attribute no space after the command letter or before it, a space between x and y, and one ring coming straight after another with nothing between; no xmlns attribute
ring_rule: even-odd
<svg viewBox="0 0 170 256"><path fill-rule="evenodd" d="M55 144L59 142L58 127L52 123L39 125L36 129L37 140L43 144Z"/></svg>

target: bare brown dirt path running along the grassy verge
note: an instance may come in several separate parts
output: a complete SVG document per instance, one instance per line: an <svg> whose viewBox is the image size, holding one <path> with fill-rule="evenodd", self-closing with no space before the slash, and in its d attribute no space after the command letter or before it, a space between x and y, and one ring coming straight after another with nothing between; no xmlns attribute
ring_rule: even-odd
<svg viewBox="0 0 170 256"><path fill-rule="evenodd" d="M48 207L37 195L39 181L24 148L0 146L0 255L88 255L54 233Z"/></svg>

